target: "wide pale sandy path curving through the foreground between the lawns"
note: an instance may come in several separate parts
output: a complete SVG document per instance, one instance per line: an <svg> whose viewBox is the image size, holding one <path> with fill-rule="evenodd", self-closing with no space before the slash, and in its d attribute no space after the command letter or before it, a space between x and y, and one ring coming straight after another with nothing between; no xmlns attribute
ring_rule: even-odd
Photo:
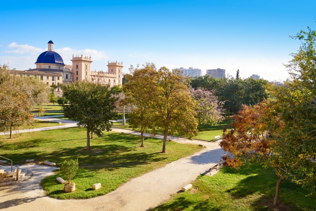
<svg viewBox="0 0 316 211"><path fill-rule="evenodd" d="M113 128L112 131L139 135L130 130ZM161 136L157 135L157 138ZM0 188L0 209L2 210L124 210L142 211L159 205L171 194L191 183L204 170L217 164L224 151L217 142L187 140L170 137L179 143L203 144L202 148L191 156L181 158L165 167L131 179L118 189L95 198L83 200L58 200L45 195L40 181L53 173L55 167L44 165L23 166L32 171L33 176L17 185ZM213 170L211 174L217 171Z"/></svg>

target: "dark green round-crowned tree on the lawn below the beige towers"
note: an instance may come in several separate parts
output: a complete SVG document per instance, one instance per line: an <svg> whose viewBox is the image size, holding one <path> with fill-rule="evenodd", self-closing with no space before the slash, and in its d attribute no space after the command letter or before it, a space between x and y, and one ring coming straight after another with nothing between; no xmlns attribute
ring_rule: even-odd
<svg viewBox="0 0 316 211"><path fill-rule="evenodd" d="M63 96L69 101L64 105L65 117L87 128L87 150L90 150L90 132L102 137L104 130L111 130L111 120L117 118L114 112L116 99L111 95L109 85L88 81L67 84L62 89Z"/></svg>

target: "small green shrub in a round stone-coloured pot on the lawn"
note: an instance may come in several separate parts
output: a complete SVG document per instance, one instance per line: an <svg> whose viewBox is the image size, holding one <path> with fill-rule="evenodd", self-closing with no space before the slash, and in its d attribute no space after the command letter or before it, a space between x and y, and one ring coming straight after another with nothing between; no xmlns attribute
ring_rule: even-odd
<svg viewBox="0 0 316 211"><path fill-rule="evenodd" d="M64 185L64 192L72 192L76 190L76 184L71 179L78 171L78 159L65 160L59 169L59 172L68 179L68 183Z"/></svg>

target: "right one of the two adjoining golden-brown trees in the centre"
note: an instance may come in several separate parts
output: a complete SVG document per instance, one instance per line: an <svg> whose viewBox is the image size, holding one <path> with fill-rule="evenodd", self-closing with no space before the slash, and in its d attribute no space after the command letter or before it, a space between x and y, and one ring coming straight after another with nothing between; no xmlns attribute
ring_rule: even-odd
<svg viewBox="0 0 316 211"><path fill-rule="evenodd" d="M196 112L188 80L180 71L169 71L161 67L157 72L157 87L153 87L153 131L163 132L162 152L166 152L167 135L183 133L191 139L197 133Z"/></svg>

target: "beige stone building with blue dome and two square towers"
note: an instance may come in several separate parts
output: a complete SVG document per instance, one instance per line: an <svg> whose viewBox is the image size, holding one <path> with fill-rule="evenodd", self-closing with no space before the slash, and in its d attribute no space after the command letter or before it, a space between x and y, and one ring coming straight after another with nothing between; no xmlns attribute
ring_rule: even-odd
<svg viewBox="0 0 316 211"><path fill-rule="evenodd" d="M48 42L48 50L37 58L35 69L11 70L12 74L38 78L51 85L68 84L76 81L92 81L110 86L122 85L123 62L108 62L108 71L92 71L91 56L72 55L72 65L65 65L62 57L54 51L52 40ZM59 91L59 88L57 89Z"/></svg>

